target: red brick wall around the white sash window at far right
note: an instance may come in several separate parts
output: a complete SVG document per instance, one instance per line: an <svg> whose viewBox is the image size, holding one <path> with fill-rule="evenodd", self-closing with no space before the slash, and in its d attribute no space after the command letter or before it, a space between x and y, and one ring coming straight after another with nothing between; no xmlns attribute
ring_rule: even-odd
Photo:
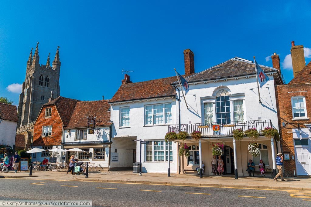
<svg viewBox="0 0 311 207"><path fill-rule="evenodd" d="M294 176L294 169L295 172L297 172L295 160L292 160L292 155L295 155L292 129L298 128L298 124L300 124L301 128L306 128L304 124L311 122L311 120L293 120L292 106L291 106L291 97L293 96L305 97L306 111L308 114L308 118L310 119L311 83L297 83L297 84L276 86L276 98L277 98L276 104L279 116L282 153L284 152L290 153L290 161L284 160L285 176ZM285 123L285 127L282 126L282 122Z"/></svg>

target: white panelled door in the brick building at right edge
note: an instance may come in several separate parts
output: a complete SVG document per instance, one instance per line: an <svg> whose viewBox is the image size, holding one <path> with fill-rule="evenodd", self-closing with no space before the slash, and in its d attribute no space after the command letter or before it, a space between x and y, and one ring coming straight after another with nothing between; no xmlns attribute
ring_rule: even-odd
<svg viewBox="0 0 311 207"><path fill-rule="evenodd" d="M311 175L310 172L310 151L309 147L296 147L297 175Z"/></svg>

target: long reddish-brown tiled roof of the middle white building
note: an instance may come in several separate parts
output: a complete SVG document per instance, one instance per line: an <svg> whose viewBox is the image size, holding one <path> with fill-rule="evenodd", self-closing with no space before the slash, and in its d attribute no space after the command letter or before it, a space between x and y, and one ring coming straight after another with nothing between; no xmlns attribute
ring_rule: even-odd
<svg viewBox="0 0 311 207"><path fill-rule="evenodd" d="M177 81L176 76L122 84L109 102L174 96L175 89L170 85L174 81Z"/></svg>

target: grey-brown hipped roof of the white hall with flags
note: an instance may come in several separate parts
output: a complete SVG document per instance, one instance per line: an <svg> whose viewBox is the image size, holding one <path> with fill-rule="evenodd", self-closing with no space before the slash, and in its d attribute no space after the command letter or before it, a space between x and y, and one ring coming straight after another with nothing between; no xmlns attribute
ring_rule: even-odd
<svg viewBox="0 0 311 207"><path fill-rule="evenodd" d="M260 65L265 72L277 71L275 68ZM230 78L236 76L252 75L255 74L255 64L249 61L243 61L236 58L231 58L228 61L215 65L211 68L203 70L197 74L191 75L186 80L188 83Z"/></svg>

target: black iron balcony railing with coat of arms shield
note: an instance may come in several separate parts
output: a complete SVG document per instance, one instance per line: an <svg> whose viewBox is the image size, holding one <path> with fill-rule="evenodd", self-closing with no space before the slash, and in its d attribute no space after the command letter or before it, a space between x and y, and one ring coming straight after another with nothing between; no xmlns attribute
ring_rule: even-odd
<svg viewBox="0 0 311 207"><path fill-rule="evenodd" d="M271 127L271 120L252 120L252 121L234 121L226 124L218 123L199 123L199 124L181 124L169 125L168 132L186 131L189 134L193 131L202 132L202 137L232 137L234 129L242 129L243 131L249 128L256 128L261 134L261 130L265 127Z"/></svg>

